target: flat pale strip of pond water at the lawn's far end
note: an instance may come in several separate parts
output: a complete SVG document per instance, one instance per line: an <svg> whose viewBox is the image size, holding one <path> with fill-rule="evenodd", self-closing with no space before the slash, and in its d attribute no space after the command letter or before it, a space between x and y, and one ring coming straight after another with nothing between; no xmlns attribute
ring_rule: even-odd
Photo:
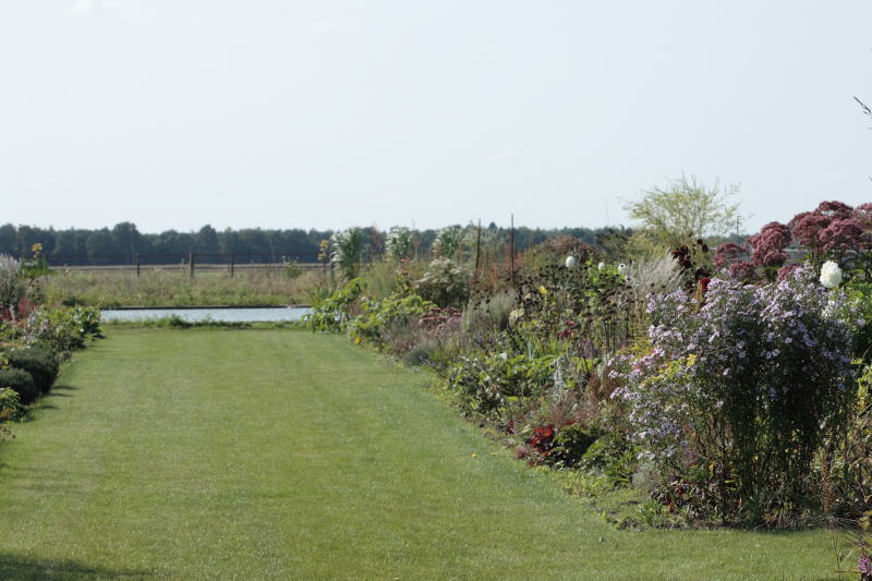
<svg viewBox="0 0 872 581"><path fill-rule="evenodd" d="M178 316L184 320L196 323L202 320L221 320L227 323L257 323L270 320L300 320L311 313L307 306L279 307L195 307L195 308L105 308L101 311L106 323L123 323L147 318Z"/></svg>

